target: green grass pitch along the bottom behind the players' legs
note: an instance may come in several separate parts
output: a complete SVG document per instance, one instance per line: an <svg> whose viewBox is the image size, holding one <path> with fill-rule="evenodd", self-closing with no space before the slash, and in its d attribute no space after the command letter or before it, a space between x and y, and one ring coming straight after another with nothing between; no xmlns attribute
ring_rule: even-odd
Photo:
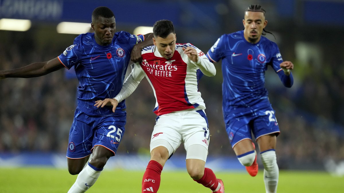
<svg viewBox="0 0 344 193"><path fill-rule="evenodd" d="M140 193L144 171L104 170L88 193ZM256 177L246 172L216 172L225 191L235 193L265 192L262 170ZM0 193L67 192L76 179L66 170L55 168L0 168ZM186 171L163 171L159 193L210 193L197 184ZM344 178L325 172L280 171L279 193L340 193Z"/></svg>

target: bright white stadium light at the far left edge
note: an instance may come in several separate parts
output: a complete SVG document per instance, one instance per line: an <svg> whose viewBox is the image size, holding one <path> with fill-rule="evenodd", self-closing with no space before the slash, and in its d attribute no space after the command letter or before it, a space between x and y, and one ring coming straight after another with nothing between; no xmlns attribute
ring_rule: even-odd
<svg viewBox="0 0 344 193"><path fill-rule="evenodd" d="M0 19L0 30L8 31L28 31L31 27L30 20Z"/></svg>

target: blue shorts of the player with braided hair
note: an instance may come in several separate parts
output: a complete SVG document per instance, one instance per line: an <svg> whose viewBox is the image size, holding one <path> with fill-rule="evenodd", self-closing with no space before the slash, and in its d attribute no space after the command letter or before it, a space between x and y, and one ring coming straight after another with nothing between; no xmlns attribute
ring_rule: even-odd
<svg viewBox="0 0 344 193"><path fill-rule="evenodd" d="M252 140L252 134L257 140L264 135L280 133L271 105L259 109L236 109L235 113L225 114L224 120L232 148L244 139Z"/></svg>

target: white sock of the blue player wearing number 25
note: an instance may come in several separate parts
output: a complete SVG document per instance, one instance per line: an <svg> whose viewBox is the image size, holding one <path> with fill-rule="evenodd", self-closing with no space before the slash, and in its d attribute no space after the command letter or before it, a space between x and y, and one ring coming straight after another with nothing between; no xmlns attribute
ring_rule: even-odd
<svg viewBox="0 0 344 193"><path fill-rule="evenodd" d="M68 193L86 192L97 181L102 170L103 168L96 168L88 162L87 166L78 174Z"/></svg>

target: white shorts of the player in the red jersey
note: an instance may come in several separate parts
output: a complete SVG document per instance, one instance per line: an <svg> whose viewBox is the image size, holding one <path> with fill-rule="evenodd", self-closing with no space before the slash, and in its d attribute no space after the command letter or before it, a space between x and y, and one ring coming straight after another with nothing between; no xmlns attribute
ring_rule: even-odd
<svg viewBox="0 0 344 193"><path fill-rule="evenodd" d="M171 156L182 142L184 142L185 150L198 144L205 148L196 146L200 147L199 154L201 155L197 156L198 152L190 152L192 157L187 156L186 159L205 161L208 154L209 136L208 120L204 110L172 112L157 118L151 137L150 151L163 146L168 149Z"/></svg>

